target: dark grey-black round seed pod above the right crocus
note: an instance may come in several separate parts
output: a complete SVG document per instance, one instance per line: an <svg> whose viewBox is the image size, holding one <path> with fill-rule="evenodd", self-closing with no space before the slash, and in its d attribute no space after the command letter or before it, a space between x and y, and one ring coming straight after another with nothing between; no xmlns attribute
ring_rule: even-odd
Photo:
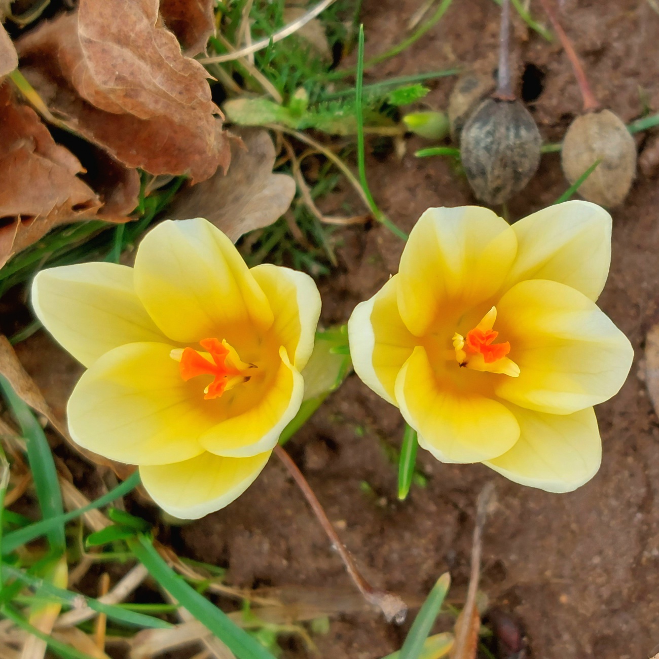
<svg viewBox="0 0 659 659"><path fill-rule="evenodd" d="M538 169L542 138L519 101L488 98L462 130L461 157L476 197L503 204Z"/></svg>

